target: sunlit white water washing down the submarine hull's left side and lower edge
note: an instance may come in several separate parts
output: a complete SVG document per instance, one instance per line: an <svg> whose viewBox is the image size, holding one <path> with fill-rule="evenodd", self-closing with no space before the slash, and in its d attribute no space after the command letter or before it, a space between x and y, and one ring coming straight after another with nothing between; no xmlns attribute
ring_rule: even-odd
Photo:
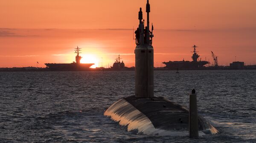
<svg viewBox="0 0 256 143"><path fill-rule="evenodd" d="M127 112L128 111L128 112ZM127 126L128 132L134 129L138 130L138 134L160 135L160 136L188 136L188 131L170 131L164 129L156 129L152 122L142 112L133 105L121 99L111 105L105 113L105 116L111 117L113 121L119 122L121 126ZM199 132L199 135L205 135Z"/></svg>

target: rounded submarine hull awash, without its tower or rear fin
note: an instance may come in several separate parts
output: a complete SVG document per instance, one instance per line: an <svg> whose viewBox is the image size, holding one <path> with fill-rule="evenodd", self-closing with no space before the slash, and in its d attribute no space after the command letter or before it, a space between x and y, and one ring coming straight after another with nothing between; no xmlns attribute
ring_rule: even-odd
<svg viewBox="0 0 256 143"><path fill-rule="evenodd" d="M128 131L137 130L145 135L189 135L189 111L185 107L163 97L123 98L105 113ZM198 116L199 135L216 134L218 130Z"/></svg>

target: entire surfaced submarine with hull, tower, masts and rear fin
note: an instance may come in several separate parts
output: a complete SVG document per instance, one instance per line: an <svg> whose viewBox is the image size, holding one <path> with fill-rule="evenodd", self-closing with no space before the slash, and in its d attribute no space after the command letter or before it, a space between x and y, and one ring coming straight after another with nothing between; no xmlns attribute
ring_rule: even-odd
<svg viewBox="0 0 256 143"><path fill-rule="evenodd" d="M136 34L135 95L116 101L104 115L126 126L128 132L160 136L186 136L197 138L216 134L218 130L197 113L196 93L192 90L189 109L164 97L154 96L153 24L149 30L150 4L146 4L147 21L139 11Z"/></svg>

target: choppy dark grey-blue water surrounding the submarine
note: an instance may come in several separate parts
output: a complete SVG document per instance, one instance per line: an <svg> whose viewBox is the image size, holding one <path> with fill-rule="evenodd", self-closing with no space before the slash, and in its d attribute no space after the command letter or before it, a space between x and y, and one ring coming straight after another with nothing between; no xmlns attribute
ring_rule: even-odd
<svg viewBox="0 0 256 143"><path fill-rule="evenodd" d="M189 137L137 135L103 113L134 95L134 71L0 73L0 142L256 142L256 70L154 71L154 95L188 106L220 133Z"/></svg>

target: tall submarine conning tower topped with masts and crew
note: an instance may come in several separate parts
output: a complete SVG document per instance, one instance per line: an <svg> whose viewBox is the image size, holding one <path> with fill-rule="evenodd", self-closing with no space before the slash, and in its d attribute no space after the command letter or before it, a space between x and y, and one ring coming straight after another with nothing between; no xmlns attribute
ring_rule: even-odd
<svg viewBox="0 0 256 143"><path fill-rule="evenodd" d="M154 97L154 49L152 46L153 24L149 30L150 4L146 4L147 24L143 20L142 8L139 11L139 26L135 31L135 97Z"/></svg>

